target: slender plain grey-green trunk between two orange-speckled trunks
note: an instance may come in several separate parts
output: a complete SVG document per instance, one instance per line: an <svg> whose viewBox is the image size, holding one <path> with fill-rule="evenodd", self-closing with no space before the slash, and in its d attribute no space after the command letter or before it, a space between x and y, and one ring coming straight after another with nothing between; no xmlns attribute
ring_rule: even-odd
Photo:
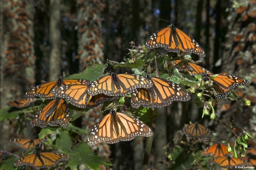
<svg viewBox="0 0 256 170"><path fill-rule="evenodd" d="M56 80L56 76L61 76L61 56L60 56L60 1L50 0L50 29L49 29L49 81Z"/></svg>

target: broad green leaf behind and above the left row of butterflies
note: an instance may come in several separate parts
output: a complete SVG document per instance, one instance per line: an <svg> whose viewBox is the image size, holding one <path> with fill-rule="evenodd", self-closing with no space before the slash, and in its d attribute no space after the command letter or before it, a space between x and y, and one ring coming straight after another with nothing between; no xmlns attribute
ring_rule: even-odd
<svg viewBox="0 0 256 170"><path fill-rule="evenodd" d="M108 66L108 64L100 65L99 63L93 63L91 62L89 66L86 67L86 69L78 74L72 74L66 79L85 79L89 81L95 81L96 79L100 78L105 70L105 68Z"/></svg>

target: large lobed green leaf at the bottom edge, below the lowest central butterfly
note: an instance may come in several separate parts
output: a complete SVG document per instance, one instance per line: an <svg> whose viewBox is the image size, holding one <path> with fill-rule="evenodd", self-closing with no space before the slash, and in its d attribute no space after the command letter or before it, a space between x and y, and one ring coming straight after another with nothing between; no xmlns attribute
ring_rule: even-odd
<svg viewBox="0 0 256 170"><path fill-rule="evenodd" d="M107 163L107 159L94 155L86 142L80 143L78 146L68 153L71 157L68 165L71 169L77 169L77 165L85 164L90 169L98 170L100 165L112 166Z"/></svg>

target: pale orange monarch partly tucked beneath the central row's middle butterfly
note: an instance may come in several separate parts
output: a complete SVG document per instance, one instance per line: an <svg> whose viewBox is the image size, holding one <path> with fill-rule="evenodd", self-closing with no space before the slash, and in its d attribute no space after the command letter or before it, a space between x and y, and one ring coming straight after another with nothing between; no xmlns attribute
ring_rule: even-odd
<svg viewBox="0 0 256 170"><path fill-rule="evenodd" d="M87 84L81 85L64 85L59 86L53 89L52 94L56 97L67 98L67 100L77 107L82 108L92 108L97 107L105 101L113 100L115 97L110 97L104 94L98 94L95 96L90 96L87 94L88 86L90 81Z"/></svg>

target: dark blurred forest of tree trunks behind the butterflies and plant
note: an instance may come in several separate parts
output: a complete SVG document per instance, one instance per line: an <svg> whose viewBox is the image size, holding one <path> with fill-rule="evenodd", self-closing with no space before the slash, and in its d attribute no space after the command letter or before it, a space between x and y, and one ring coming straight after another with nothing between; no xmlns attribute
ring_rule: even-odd
<svg viewBox="0 0 256 170"><path fill-rule="evenodd" d="M227 124L232 116L239 128L250 129L255 125L255 0L1 0L1 108L6 108L8 101L23 98L35 85L57 80L62 72L66 76L82 72L91 60L100 64L106 60L122 62L129 52L130 41L144 44L154 32L170 25L159 19L175 23L175 27L200 44L206 57L192 57L194 61L201 60L201 66L213 73L227 72L250 82L239 88L251 100L250 107L244 107L241 100L225 98L219 101L222 105L216 105L216 114ZM113 71L111 67L108 70ZM193 96L189 102L173 102L157 109L152 167L164 169L163 147L167 143L170 148L177 144L173 141L175 133L185 123L201 120L202 110L192 101ZM98 108L91 112L97 111ZM88 116L72 123L83 127ZM204 117L200 123L214 130L216 141L227 141L230 137L230 131L217 120ZM29 128L25 130L27 137L33 137ZM0 124L0 150L12 147L6 141L17 137L13 131L9 121ZM256 136L255 131L251 134ZM140 140L106 145L111 151L106 154L114 158L112 163L116 168L138 169L136 161L130 160L142 162Z"/></svg>

